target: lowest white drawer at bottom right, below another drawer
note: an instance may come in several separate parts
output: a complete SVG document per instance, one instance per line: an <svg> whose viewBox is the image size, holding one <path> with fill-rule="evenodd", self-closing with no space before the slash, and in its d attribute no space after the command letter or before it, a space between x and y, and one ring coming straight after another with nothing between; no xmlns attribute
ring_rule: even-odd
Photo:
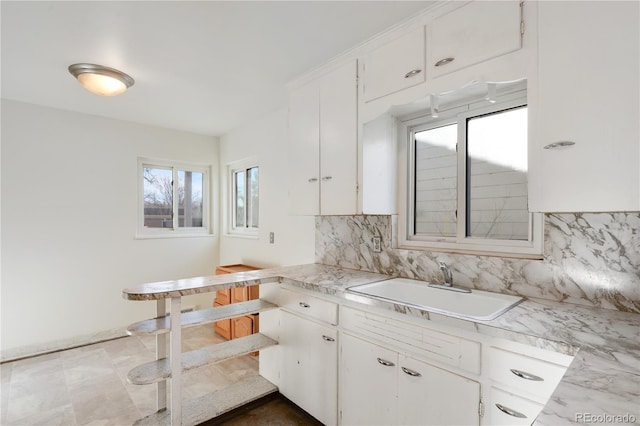
<svg viewBox="0 0 640 426"><path fill-rule="evenodd" d="M498 388L491 388L491 425L530 425L534 422L543 405L510 394Z"/></svg>

